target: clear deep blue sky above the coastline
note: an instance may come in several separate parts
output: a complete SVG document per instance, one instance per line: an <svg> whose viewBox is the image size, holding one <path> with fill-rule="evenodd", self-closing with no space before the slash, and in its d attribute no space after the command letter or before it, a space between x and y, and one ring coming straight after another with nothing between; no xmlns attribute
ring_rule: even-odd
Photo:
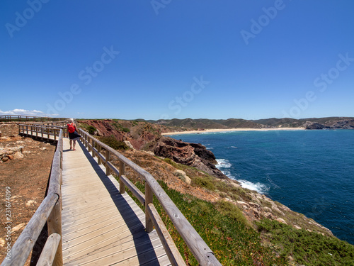
<svg viewBox="0 0 354 266"><path fill-rule="evenodd" d="M352 0L3 0L0 114L354 116Z"/></svg>

